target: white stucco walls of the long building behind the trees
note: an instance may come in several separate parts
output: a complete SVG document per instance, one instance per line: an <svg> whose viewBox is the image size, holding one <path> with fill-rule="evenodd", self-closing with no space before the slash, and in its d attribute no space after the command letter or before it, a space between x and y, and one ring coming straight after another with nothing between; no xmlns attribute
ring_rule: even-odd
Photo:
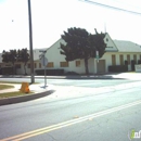
<svg viewBox="0 0 141 141"><path fill-rule="evenodd" d="M112 65L112 55L113 54L115 54L115 56L116 56L116 65L120 65L120 60L119 60L120 54L124 55L124 63L125 63L125 60L127 60L127 54L130 54L130 61L133 60L133 54L137 55L137 61L140 60L141 52L118 52L115 43L113 42L113 40L111 39L108 34L106 35L104 40L107 43L107 48L106 48L107 52L105 52L104 55L100 60L105 60L105 73L108 73L108 66ZM65 72L76 72L79 74L85 74L86 68L85 68L84 60L76 60L76 61L80 61L80 66L78 66L78 67L76 67L76 61L68 62L68 67L61 67L60 66L60 62L66 62L65 55L60 54L60 51L61 51L60 43L61 42L65 43L63 39L60 39L54 44L52 44L50 48L43 49L43 50L47 50L46 57L48 59L48 62L53 62L53 65L54 65L54 67L47 67L47 69L63 68ZM40 63L39 55L41 53L39 52L39 49L34 51L34 61L37 63L37 67L35 68L35 70L44 68L42 65L41 65L41 68L39 67L39 63ZM28 63L30 63L30 62L28 62ZM29 75L30 68L28 68L28 63L26 66L26 72ZM1 54L0 54L0 65L3 67L5 66L5 64L2 63ZM97 60L95 59L89 59L88 65L89 65L89 73L90 74L97 73ZM131 70L131 64L128 65L128 70ZM23 63L21 65L21 68L17 68L16 73L17 74L25 73Z"/></svg>

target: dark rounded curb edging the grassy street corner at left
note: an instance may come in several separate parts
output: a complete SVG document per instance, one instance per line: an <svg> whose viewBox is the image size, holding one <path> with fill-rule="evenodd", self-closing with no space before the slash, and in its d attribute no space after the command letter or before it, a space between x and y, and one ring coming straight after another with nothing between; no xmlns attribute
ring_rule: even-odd
<svg viewBox="0 0 141 141"><path fill-rule="evenodd" d="M26 101L39 99L39 98L49 95L49 94L53 93L54 91L55 90L48 90L48 91L38 92L38 93L35 93L35 94L27 94L27 95L1 99L0 105L15 104L15 103L21 103L21 102L26 102Z"/></svg>

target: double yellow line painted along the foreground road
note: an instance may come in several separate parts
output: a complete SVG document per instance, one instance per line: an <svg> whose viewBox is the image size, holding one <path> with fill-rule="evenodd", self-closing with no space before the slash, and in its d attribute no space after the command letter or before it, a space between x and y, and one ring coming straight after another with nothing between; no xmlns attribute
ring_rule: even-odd
<svg viewBox="0 0 141 141"><path fill-rule="evenodd" d="M121 111L121 110L125 110L125 108L128 108L128 107L131 107L131 106L136 106L136 105L139 105L139 104L141 104L141 100L129 103L129 104L125 104L125 105L121 105L121 106L105 110L105 111L102 111L102 112L98 112L98 113L94 113L94 114L91 114L91 115L87 115L87 116L84 116L84 117L79 117L77 119L70 119L70 120L60 123L60 124L56 124L56 125L52 125L52 126L49 126L49 127L44 127L44 128L40 128L40 129L33 130L33 131L29 131L29 132L25 132L25 133L22 133L22 134L5 138L5 139L0 140L0 141L21 141L21 140L31 138L31 137L35 137L35 136L38 136L38 134L42 134L42 133L46 133L46 132L50 132L50 131L53 131L53 130L56 130L56 129L60 129L60 128L64 128L64 127L72 126L72 125L75 125L75 124L78 124L78 123L82 123L82 121L89 120L89 118L97 118L97 117L107 115L107 114L111 114L111 113L114 113L114 112L117 112L117 111Z"/></svg>

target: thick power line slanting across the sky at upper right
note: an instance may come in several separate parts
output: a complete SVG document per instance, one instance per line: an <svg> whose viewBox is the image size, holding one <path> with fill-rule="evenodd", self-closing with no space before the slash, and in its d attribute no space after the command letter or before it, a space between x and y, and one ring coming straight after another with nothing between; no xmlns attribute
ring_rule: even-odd
<svg viewBox="0 0 141 141"><path fill-rule="evenodd" d="M131 14L136 14L136 15L141 15L141 13L139 13L139 12L120 9L120 8L116 8L116 7L112 7L112 5L107 5L107 4L94 2L94 1L91 1L91 0L79 0L79 1L87 2L87 3L90 3L90 4L100 5L100 7L104 7L104 8L107 8L107 9L113 9L113 10L117 10L117 11L123 11L123 12L127 12L127 13L131 13Z"/></svg>

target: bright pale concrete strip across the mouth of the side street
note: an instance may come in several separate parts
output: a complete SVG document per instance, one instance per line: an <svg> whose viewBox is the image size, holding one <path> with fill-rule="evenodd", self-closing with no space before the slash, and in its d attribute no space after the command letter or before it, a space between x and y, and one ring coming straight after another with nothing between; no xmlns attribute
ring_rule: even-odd
<svg viewBox="0 0 141 141"><path fill-rule="evenodd" d="M49 98L51 100L60 99L73 99L81 97L91 97L98 94L106 94L110 92L123 91L127 89L138 88L141 86L141 81L134 81L129 84L121 84L108 87L87 88L87 87L75 87L75 86L55 86L55 92Z"/></svg>

